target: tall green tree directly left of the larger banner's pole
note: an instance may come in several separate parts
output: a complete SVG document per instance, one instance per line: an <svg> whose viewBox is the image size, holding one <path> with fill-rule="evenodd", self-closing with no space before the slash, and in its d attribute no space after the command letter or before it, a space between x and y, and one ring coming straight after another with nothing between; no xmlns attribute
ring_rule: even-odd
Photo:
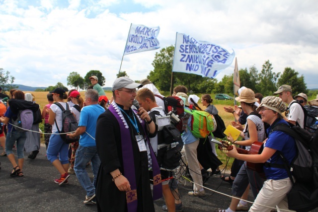
<svg viewBox="0 0 318 212"><path fill-rule="evenodd" d="M157 88L161 91L170 90L170 80L172 72L172 61L173 61L173 46L162 48L160 53L156 53L155 59L152 63L154 70L150 71L147 78L151 80ZM175 77L173 84L176 83Z"/></svg>

